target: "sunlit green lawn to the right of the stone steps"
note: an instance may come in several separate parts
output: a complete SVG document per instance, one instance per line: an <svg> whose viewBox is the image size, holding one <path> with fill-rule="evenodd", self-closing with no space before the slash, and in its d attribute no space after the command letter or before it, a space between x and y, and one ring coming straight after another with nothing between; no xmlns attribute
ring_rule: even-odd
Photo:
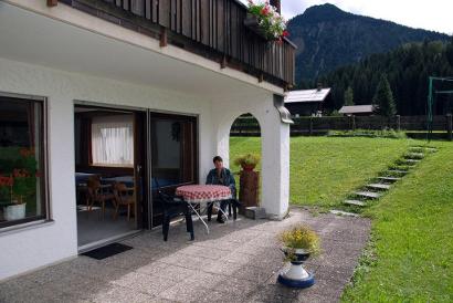
<svg viewBox="0 0 453 303"><path fill-rule="evenodd" d="M453 302L453 144L434 145L366 211L372 245L344 302Z"/></svg>

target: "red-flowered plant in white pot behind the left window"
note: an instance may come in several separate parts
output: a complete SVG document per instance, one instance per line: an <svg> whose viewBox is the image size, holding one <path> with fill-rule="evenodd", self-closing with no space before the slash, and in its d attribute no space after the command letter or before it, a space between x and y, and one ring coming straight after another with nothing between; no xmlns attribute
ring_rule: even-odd
<svg viewBox="0 0 453 303"><path fill-rule="evenodd" d="M0 174L0 200L7 221L25 218L27 200L36 194L36 159L32 149L21 149L12 171ZM4 174L4 173L3 173Z"/></svg>

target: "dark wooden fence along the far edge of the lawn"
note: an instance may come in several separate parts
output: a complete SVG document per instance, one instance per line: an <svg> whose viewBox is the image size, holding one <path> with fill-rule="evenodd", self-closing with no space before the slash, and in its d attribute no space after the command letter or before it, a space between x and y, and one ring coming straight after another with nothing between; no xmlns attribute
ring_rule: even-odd
<svg viewBox="0 0 453 303"><path fill-rule="evenodd" d="M428 128L426 116L340 116L340 117L294 117L292 136L319 136L329 130L383 129L405 132L409 136L420 137ZM452 139L452 115L433 116L432 130L442 133L441 137ZM231 127L232 136L260 135L260 124L254 117L239 117Z"/></svg>

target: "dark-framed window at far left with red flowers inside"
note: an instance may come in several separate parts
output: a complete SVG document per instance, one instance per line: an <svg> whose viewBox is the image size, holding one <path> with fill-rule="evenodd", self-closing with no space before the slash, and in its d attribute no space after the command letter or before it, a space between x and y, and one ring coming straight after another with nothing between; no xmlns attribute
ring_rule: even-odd
<svg viewBox="0 0 453 303"><path fill-rule="evenodd" d="M44 103L0 96L0 228L46 218Z"/></svg>

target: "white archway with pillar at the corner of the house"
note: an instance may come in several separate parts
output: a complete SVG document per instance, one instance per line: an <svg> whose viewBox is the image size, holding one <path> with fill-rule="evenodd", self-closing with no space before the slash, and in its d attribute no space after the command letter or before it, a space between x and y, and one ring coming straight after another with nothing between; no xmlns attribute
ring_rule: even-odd
<svg viewBox="0 0 453 303"><path fill-rule="evenodd" d="M289 125L282 123L273 94L212 104L214 153L230 166L230 128L243 113L252 114L261 126L261 206L272 218L282 219L289 199Z"/></svg>

